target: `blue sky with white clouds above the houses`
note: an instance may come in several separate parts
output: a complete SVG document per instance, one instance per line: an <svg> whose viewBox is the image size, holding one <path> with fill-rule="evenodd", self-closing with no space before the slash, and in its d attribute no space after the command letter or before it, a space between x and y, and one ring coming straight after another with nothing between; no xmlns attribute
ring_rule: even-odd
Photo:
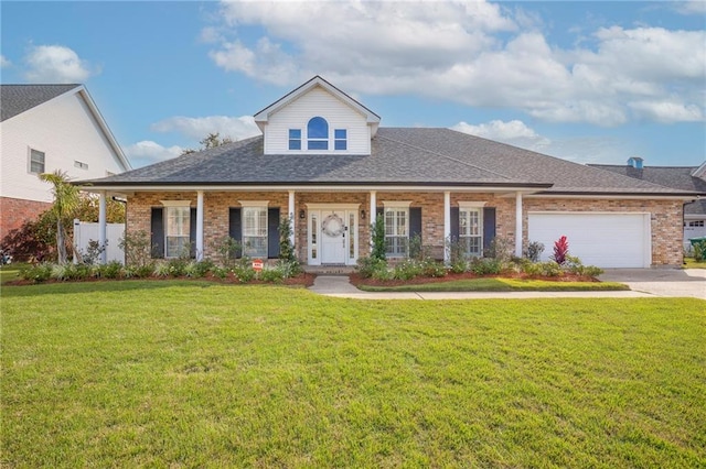
<svg viewBox="0 0 706 469"><path fill-rule="evenodd" d="M0 2L2 84L81 83L133 167L320 75L384 127L577 163L706 160L706 0Z"/></svg>

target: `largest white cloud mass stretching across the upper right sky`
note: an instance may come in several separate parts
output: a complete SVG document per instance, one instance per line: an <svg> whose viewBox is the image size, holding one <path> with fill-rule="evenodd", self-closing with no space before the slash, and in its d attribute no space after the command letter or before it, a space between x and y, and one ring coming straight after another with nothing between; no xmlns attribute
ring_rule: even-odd
<svg viewBox="0 0 706 469"><path fill-rule="evenodd" d="M635 105L643 101L686 110L668 112L672 121L706 114L706 31L601 28L558 46L547 42L532 6L513 8L235 1L222 3L218 34L203 35L215 41L210 56L217 66L278 86L319 74L353 94L414 94L599 126L663 119ZM238 34L249 26L265 33Z"/></svg>

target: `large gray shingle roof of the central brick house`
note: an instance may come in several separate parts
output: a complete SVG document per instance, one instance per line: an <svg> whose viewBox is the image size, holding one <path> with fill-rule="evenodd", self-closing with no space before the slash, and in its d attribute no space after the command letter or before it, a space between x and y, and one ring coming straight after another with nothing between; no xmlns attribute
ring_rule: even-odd
<svg viewBox="0 0 706 469"><path fill-rule="evenodd" d="M381 128L370 155L265 155L263 137L92 182L100 186L435 185L546 188L555 194L678 194L450 129Z"/></svg>

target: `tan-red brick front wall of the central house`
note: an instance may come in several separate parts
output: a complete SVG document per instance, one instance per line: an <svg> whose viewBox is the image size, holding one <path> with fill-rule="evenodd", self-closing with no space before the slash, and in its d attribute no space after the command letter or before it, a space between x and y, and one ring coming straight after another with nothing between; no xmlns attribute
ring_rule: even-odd
<svg viewBox="0 0 706 469"><path fill-rule="evenodd" d="M152 207L161 207L161 200L190 200L196 206L195 192L136 193L128 197L127 229L129 233L150 231ZM228 209L239 207L239 200L268 200L269 207L279 207L280 216L286 216L289 194L281 192L206 192L204 194L204 255L214 254L213 246L228 234ZM410 201L411 207L421 207L421 229L424 244L431 246L437 257L443 253L443 194L442 193L394 193L377 192L377 206L383 201ZM515 240L515 197L482 194L451 193L451 206L459 201L483 201L485 207L494 207L496 212L495 234ZM370 193L313 193L295 194L295 244L299 259L306 260L307 204L359 204L359 257L370 253L370 225L375 215L370 214ZM523 241L527 242L527 211L637 211L650 212L652 226L652 263L654 265L681 265L682 252L682 203L680 200L651 199L549 199L524 198ZM304 219L299 218L304 211ZM362 219L362 210L366 217Z"/></svg>

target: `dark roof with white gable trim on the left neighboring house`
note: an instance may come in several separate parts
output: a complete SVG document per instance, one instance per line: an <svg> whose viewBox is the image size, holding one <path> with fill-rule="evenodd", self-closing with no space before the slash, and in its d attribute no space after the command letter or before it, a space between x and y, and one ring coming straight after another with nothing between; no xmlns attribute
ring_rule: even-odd
<svg viewBox="0 0 706 469"><path fill-rule="evenodd" d="M83 85L0 85L0 122L29 111L67 94L77 94L86 102L110 148L125 171L132 168L122 149L116 141L98 107Z"/></svg>

